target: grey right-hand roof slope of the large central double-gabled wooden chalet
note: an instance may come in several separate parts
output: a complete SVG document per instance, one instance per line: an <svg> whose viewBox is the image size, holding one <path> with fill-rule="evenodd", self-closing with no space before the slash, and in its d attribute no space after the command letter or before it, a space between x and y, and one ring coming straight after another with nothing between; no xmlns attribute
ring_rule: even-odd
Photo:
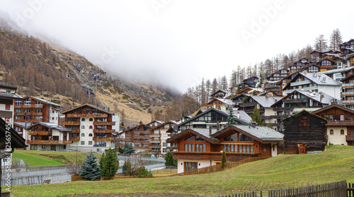
<svg viewBox="0 0 354 197"><path fill-rule="evenodd" d="M234 125L236 128L245 131L246 133L255 136L256 138L260 138L262 141L282 141L284 135L275 131L274 129L270 129L268 126L244 126L244 125Z"/></svg>

